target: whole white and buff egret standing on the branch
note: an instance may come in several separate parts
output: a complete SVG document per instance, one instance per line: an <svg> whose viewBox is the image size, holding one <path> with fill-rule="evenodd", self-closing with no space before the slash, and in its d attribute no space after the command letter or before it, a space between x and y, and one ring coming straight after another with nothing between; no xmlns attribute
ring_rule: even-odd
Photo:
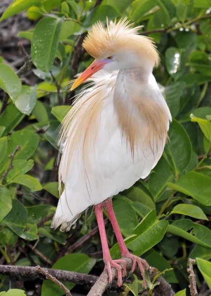
<svg viewBox="0 0 211 296"><path fill-rule="evenodd" d="M122 257L138 264L146 286L145 260L129 253L113 208L112 196L146 178L160 159L167 140L169 108L152 74L159 65L158 51L151 38L140 36L126 19L97 22L83 41L94 62L71 86L88 79L89 86L76 97L62 122L59 145L60 197L52 227L70 230L80 215L95 206L103 257L111 278L118 273L118 285L126 276L125 262L112 260L103 219L105 207ZM121 269L119 263L123 265Z"/></svg>

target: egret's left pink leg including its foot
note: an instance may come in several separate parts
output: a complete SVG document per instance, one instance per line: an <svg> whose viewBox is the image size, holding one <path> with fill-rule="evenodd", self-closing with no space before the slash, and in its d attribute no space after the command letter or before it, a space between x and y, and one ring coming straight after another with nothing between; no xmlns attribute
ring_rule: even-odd
<svg viewBox="0 0 211 296"><path fill-rule="evenodd" d="M106 229L105 229L105 225L104 225L103 208L104 208L103 203L100 203L95 206L95 215L97 218L100 237L101 237L105 268L107 269L109 283L112 282L111 267L116 268L116 270L117 270L117 284L119 287L121 287L122 286L122 276L123 277L126 276L126 262L122 259L112 260L110 257L110 252L109 252L107 238L106 238ZM123 270L118 263L123 265Z"/></svg>

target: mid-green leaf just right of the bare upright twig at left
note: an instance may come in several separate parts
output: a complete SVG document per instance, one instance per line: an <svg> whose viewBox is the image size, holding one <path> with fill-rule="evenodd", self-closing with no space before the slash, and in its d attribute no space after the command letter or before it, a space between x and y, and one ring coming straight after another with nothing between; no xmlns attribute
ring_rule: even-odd
<svg viewBox="0 0 211 296"><path fill-rule="evenodd" d="M34 166L34 161L32 159L28 161L22 159L14 160L12 165L13 169L11 169L6 176L6 182L11 182L17 176L24 175L29 172Z"/></svg>

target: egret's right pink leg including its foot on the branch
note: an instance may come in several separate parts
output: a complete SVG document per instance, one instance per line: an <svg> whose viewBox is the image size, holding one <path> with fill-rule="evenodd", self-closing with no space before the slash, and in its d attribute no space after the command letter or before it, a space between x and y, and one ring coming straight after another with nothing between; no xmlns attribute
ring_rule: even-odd
<svg viewBox="0 0 211 296"><path fill-rule="evenodd" d="M128 257L128 258L131 258L133 260L133 265L132 265L132 268L131 268L131 272L134 272L134 270L136 268L136 264L138 264L138 266L140 268L140 271L141 271L141 276L143 278L143 285L142 286L145 287L147 285L147 283L146 283L145 275L144 275L144 267L146 268L146 270L148 270L149 265L145 260L141 259L138 256L135 256L135 255L129 253L129 251L128 251L126 245L125 245L125 242L123 240L123 237L122 237L118 222L116 220L116 216L115 216L114 211L113 211L112 201L111 201L110 198L106 200L105 207L106 207L106 212L108 214L110 222L111 222L111 224L113 226L113 230L114 230L115 235L116 235L116 239L117 239L119 249L120 249L121 254L122 254L122 258Z"/></svg>

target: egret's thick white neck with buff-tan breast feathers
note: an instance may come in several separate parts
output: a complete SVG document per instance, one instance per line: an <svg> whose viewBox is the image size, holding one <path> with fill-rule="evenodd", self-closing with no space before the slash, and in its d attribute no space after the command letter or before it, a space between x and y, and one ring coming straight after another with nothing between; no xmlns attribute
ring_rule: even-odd
<svg viewBox="0 0 211 296"><path fill-rule="evenodd" d="M113 104L118 125L132 153L140 143L154 151L160 139L165 139L171 115L151 73L140 67L120 70Z"/></svg>

